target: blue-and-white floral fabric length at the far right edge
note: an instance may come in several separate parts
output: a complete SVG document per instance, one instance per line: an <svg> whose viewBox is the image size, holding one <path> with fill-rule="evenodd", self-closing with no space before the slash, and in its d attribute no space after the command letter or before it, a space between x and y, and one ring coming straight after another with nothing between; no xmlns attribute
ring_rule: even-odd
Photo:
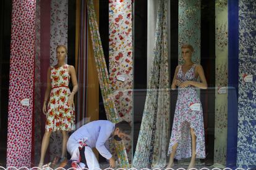
<svg viewBox="0 0 256 170"><path fill-rule="evenodd" d="M237 167L256 168L256 1L239 1ZM246 82L245 76L252 75Z"/></svg>

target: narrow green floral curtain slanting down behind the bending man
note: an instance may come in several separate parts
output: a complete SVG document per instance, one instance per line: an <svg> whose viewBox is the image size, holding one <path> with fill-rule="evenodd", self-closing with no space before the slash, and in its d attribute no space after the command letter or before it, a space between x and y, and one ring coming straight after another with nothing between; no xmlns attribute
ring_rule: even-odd
<svg viewBox="0 0 256 170"><path fill-rule="evenodd" d="M108 70L106 67L105 57L101 46L100 33L98 30L98 23L96 21L96 14L93 6L93 0L87 1L87 11L90 33L92 36L93 51L95 55L95 63L98 71L98 78L100 82L101 94L105 106L106 116L109 121L117 123L119 121L116 108L114 105L113 90L110 86ZM129 168L126 149L123 142L115 142L116 151L120 166L122 168Z"/></svg>

